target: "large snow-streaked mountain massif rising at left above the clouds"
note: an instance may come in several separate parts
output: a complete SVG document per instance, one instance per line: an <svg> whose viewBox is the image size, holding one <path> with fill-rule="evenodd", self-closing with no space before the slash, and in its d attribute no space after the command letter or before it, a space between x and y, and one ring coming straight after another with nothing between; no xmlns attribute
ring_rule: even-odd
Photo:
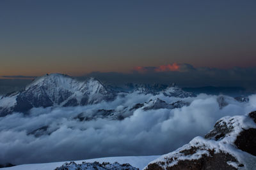
<svg viewBox="0 0 256 170"><path fill-rule="evenodd" d="M115 94L100 81L90 78L77 81L65 74L47 74L34 80L26 89L0 99L0 115L25 112L35 107L83 106L111 101Z"/></svg>

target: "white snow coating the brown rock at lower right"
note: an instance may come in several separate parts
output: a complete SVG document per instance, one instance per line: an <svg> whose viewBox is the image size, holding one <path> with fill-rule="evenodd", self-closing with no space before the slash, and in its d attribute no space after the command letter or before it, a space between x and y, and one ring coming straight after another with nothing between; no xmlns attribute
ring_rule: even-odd
<svg viewBox="0 0 256 170"><path fill-rule="evenodd" d="M156 160L150 162L157 163L157 162L166 162L167 159L171 157L175 157L177 159L173 160L170 164L164 164L162 166L164 169L166 167L171 167L179 162L179 160L194 160L200 159L202 155L208 155L208 150L214 150L214 153L229 153L234 156L240 163L244 164L244 167L239 167L239 169L255 169L256 167L256 157L251 155L250 153L243 152L239 150L234 145L236 141L237 135L243 131L243 129L250 129L256 128L255 123L253 122L252 118L247 116L234 116L234 117L223 117L220 119L221 124L227 124L228 128L231 126L233 127L232 132L228 133L225 138L220 139L218 141L212 139L205 139L201 136L197 136L192 139L188 144L178 148L177 150L162 155ZM189 150L192 147L199 148L196 153L185 155L181 151ZM231 166L238 168L237 162L228 162Z"/></svg>

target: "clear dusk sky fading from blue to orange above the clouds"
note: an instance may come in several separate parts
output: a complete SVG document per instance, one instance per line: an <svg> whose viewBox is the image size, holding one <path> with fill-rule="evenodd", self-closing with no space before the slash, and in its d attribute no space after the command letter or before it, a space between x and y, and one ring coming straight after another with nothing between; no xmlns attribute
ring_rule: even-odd
<svg viewBox="0 0 256 170"><path fill-rule="evenodd" d="M0 75L256 66L256 1L0 1Z"/></svg>

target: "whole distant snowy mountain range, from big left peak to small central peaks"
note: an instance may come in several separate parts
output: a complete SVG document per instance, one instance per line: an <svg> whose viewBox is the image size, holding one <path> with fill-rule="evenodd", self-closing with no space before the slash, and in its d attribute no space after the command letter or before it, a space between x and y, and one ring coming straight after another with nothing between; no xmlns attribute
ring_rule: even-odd
<svg viewBox="0 0 256 170"><path fill-rule="evenodd" d="M66 74L46 74L36 78L25 89L12 92L0 98L0 116L13 111L23 112L31 108L49 106L85 106L102 101L113 101L120 92L138 94L159 94L172 97L195 97L191 92L184 92L178 87L164 85L127 85L129 90L106 87L95 78L78 81ZM159 106L157 106L159 108ZM154 107L153 107L154 108Z"/></svg>

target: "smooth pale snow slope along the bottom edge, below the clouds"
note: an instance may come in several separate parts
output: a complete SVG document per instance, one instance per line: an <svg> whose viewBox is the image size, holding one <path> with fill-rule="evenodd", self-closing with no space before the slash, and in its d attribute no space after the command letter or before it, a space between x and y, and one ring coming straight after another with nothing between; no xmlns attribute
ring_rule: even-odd
<svg viewBox="0 0 256 170"><path fill-rule="evenodd" d="M152 160L157 159L160 155L154 156L138 156L138 157L105 157L105 158L98 158L98 159L86 159L86 160L76 160L77 164L82 164L82 162L109 162L114 163L118 162L119 164L131 164L131 166L138 167L139 169L143 169L143 167L147 166L149 162ZM70 161L65 161L70 162ZM4 167L0 168L1 170L53 170L56 167L62 166L65 162L51 162L51 163L44 163L44 164L24 164L20 166L13 166L13 167Z"/></svg>

